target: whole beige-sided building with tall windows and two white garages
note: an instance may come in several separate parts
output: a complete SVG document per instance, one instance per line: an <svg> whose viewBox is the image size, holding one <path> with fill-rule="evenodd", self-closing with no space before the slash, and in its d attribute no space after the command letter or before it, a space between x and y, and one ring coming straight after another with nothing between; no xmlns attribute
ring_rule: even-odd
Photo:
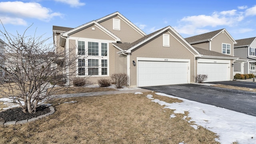
<svg viewBox="0 0 256 144"><path fill-rule="evenodd" d="M67 74L97 82L126 73L130 86L157 86L233 79L236 41L225 30L182 38L171 26L145 34L119 12L76 28L53 26L56 52L80 56ZM70 56L69 56L70 57Z"/></svg>

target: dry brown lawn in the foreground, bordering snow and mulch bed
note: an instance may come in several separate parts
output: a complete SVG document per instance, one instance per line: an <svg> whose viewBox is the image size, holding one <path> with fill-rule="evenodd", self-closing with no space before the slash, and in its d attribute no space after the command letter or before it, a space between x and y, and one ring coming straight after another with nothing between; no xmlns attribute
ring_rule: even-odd
<svg viewBox="0 0 256 144"><path fill-rule="evenodd" d="M147 94L181 102L152 92L54 99L56 112L51 116L24 125L0 126L0 143L218 144L213 132L200 126L195 130L182 114L170 118L173 110L151 102ZM70 101L77 102L64 103Z"/></svg>

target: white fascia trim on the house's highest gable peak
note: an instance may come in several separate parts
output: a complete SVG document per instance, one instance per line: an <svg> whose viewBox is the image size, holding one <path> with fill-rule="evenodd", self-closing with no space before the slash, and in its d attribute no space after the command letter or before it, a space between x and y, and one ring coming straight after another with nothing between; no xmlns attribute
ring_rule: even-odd
<svg viewBox="0 0 256 144"><path fill-rule="evenodd" d="M112 16L115 16L115 15L118 15L119 18L122 18L124 20L124 22L126 22L126 24L132 26L134 28L134 30L136 30L137 32L140 32L142 36L147 35L140 28L138 28L138 26L136 26L130 20L128 20L126 17L124 17L122 14L120 14L120 12L114 12L114 13L108 15L108 16L104 16L103 18L100 18L100 19L96 20L96 22L101 22L101 21L106 20L108 18L111 18Z"/></svg>

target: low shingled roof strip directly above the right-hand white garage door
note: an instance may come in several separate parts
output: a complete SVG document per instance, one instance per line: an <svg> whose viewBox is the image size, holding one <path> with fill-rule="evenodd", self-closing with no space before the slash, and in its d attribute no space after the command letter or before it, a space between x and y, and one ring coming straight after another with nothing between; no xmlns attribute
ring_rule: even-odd
<svg viewBox="0 0 256 144"><path fill-rule="evenodd" d="M228 58L228 59L238 59L238 57L230 56L230 55L227 55L227 54L222 54L220 52L205 50L203 48L198 48L198 47L195 47L195 46L193 46L193 48L200 53L200 55L201 55L200 57L214 57L214 58L219 57L219 58Z"/></svg>

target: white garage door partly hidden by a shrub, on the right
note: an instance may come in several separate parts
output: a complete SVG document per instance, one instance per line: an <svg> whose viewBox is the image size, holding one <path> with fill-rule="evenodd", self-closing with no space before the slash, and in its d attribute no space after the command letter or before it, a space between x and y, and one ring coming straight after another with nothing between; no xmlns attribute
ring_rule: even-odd
<svg viewBox="0 0 256 144"><path fill-rule="evenodd" d="M230 80L229 64L198 63L198 74L207 74L205 82L217 82Z"/></svg>

